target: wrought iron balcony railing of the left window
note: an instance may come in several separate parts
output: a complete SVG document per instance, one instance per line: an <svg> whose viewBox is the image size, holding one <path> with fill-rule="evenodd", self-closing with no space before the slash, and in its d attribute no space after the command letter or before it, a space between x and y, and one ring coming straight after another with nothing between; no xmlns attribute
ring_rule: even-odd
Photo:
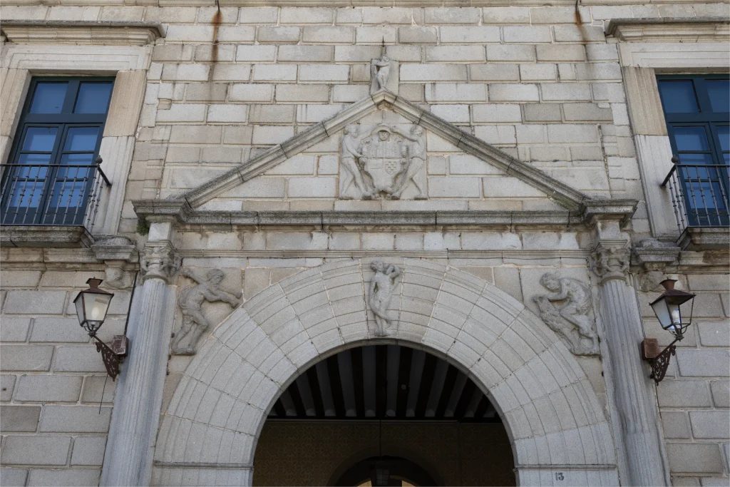
<svg viewBox="0 0 730 487"><path fill-rule="evenodd" d="M102 190L111 183L97 164L0 164L0 225L83 226L90 233Z"/></svg>

